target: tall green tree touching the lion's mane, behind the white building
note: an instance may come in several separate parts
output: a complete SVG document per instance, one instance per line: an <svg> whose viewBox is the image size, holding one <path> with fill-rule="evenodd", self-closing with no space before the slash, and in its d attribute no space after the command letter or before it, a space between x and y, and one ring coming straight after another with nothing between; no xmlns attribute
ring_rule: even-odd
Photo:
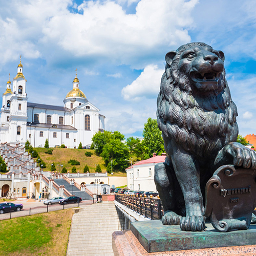
<svg viewBox="0 0 256 256"><path fill-rule="evenodd" d="M153 156L155 152L161 155L164 152L162 132L158 128L157 120L148 118L144 124L142 145L145 150L145 159Z"/></svg>

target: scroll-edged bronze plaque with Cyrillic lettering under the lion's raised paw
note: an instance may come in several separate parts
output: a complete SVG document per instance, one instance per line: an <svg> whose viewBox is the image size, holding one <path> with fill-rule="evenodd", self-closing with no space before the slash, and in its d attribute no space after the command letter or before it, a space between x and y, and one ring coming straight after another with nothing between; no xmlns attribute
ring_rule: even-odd
<svg viewBox="0 0 256 256"><path fill-rule="evenodd" d="M206 184L204 216L218 231L248 229L256 207L256 170L223 165Z"/></svg>

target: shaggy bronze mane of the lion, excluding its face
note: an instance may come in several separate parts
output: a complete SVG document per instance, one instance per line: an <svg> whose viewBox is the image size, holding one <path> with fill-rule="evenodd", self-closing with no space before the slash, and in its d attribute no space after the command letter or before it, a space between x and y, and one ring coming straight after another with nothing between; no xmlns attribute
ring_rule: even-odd
<svg viewBox="0 0 256 256"><path fill-rule="evenodd" d="M157 99L157 121L164 137L175 140L197 157L205 157L217 154L228 142L236 141L238 114L225 70L219 79L219 90L204 93L191 84L187 75L179 72L182 52L196 45L211 48L202 42L183 45L177 50L172 65L166 64Z"/></svg>

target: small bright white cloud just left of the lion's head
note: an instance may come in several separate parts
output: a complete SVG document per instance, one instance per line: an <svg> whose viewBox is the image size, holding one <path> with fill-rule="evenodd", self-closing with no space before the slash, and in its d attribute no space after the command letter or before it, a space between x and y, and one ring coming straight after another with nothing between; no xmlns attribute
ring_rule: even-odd
<svg viewBox="0 0 256 256"><path fill-rule="evenodd" d="M148 65L131 84L122 89L125 100L140 100L142 97L155 97L159 93L164 70L157 65Z"/></svg>

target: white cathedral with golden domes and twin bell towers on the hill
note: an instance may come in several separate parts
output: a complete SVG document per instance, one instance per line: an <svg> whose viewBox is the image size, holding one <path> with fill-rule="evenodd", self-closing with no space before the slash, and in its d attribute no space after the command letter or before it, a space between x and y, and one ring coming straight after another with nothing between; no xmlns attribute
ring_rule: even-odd
<svg viewBox="0 0 256 256"><path fill-rule="evenodd" d="M63 100L64 106L28 102L27 80L20 60L13 83L9 80L3 94L0 116L0 143L22 143L33 147L65 144L70 148L90 147L93 135L104 131L105 117L88 101L79 89L77 74L71 90Z"/></svg>

